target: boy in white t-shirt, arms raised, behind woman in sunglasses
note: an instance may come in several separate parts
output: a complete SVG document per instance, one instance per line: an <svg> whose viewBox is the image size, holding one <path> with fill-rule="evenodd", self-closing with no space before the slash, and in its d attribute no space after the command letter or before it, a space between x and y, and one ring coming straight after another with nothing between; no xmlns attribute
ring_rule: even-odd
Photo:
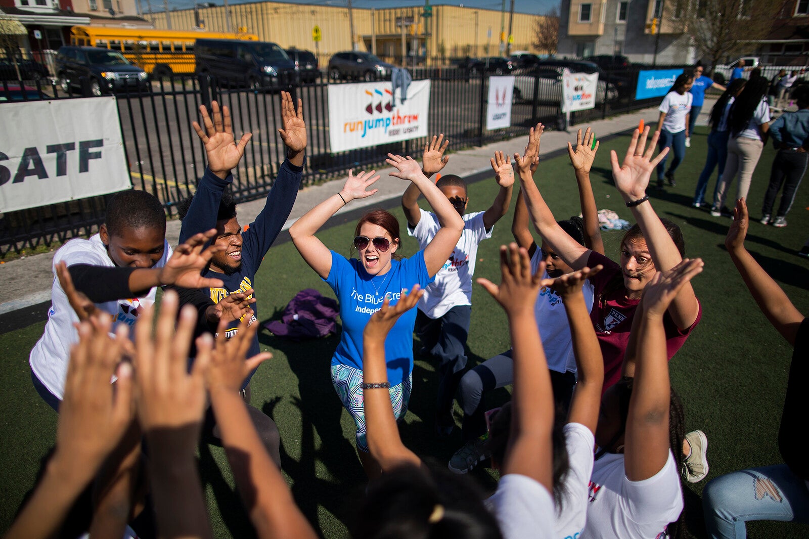
<svg viewBox="0 0 809 539"><path fill-rule="evenodd" d="M430 177L444 168L449 160L443 153L449 141L443 134L433 137L425 146L422 169ZM427 286L418 303L416 333L421 338L421 354L438 363L438 405L435 429L438 435L449 435L455 420L452 418L452 403L455 389L466 367L466 340L472 316L472 274L475 273L477 244L492 236L494 223L508 211L511 189L514 185L514 169L510 159L502 151L495 152L491 159L494 179L500 190L488 210L464 214L469 202L466 184L460 176L446 175L436 185L464 218L464 231L451 257ZM407 219L407 231L418 240L419 248L425 248L440 229L438 218L432 212L421 210L417 200L419 190L410 185L402 195L402 209Z"/></svg>

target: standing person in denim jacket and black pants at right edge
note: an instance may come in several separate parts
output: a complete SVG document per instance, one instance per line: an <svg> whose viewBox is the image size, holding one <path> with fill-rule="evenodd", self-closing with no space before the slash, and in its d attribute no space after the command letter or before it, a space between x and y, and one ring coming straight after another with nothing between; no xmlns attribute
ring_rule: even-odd
<svg viewBox="0 0 809 539"><path fill-rule="evenodd" d="M798 193L803 175L809 164L809 87L799 87L792 97L798 102L796 112L786 112L769 125L769 136L778 153L773 159L773 169L769 176L769 186L761 208L761 223L772 223L773 227L786 227L786 214ZM778 191L784 186L781 204L770 220Z"/></svg>

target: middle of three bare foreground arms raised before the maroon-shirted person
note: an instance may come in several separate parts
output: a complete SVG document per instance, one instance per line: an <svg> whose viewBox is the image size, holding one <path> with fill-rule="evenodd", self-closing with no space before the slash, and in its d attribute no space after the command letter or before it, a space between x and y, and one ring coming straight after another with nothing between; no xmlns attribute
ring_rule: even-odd
<svg viewBox="0 0 809 539"><path fill-rule="evenodd" d="M565 302L570 337L573 339L573 354L576 358L576 387L570 400L567 421L581 423L594 434L595 425L599 422L601 386L604 385L604 359L599 340L595 337L590 312L587 311L587 303L584 301L582 285L601 269L604 266L584 268L549 282L549 286L559 292Z"/></svg>

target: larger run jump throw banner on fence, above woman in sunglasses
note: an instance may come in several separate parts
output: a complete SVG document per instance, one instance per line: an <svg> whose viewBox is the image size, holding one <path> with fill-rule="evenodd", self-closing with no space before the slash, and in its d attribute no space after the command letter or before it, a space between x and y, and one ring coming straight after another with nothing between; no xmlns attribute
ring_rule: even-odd
<svg viewBox="0 0 809 539"><path fill-rule="evenodd" d="M430 81L413 81L404 102L391 83L328 85L328 142L346 151L426 137Z"/></svg>

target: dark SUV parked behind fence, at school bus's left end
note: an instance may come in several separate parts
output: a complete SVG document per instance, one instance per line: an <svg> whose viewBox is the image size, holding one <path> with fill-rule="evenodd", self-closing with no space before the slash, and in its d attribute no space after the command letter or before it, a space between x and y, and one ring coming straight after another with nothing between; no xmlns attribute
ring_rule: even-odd
<svg viewBox="0 0 809 539"><path fill-rule="evenodd" d="M123 54L98 47L61 47L56 57L57 79L61 90L80 87L81 79L90 80L93 95L111 91L146 91L150 89L149 76L133 66Z"/></svg>

